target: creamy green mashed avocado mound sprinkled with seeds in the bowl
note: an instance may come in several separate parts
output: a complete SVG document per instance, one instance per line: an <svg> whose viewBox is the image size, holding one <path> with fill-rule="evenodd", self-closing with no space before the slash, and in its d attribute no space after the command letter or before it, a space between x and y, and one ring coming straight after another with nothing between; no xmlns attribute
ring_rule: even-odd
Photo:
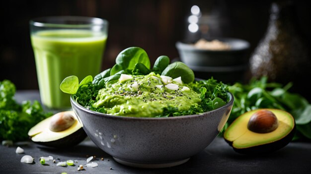
<svg viewBox="0 0 311 174"><path fill-rule="evenodd" d="M163 108L173 107L187 111L191 105L201 102L200 94L193 90L182 90L186 85L178 85L178 90L165 87L158 74L132 76L124 82L107 84L98 91L94 108L104 108L107 114L116 116L155 117L163 113ZM137 88L134 83L137 83ZM162 85L157 87L156 85Z"/></svg>

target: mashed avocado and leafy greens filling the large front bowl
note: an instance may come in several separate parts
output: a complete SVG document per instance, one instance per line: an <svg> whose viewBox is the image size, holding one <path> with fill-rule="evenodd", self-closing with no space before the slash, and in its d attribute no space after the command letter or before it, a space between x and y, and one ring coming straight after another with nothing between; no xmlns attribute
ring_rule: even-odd
<svg viewBox="0 0 311 174"><path fill-rule="evenodd" d="M130 47L119 53L111 68L80 82L68 76L60 89L84 108L113 116L189 116L229 102L226 84L213 77L195 81L185 63L169 62L167 56L159 56L151 67L145 50Z"/></svg>

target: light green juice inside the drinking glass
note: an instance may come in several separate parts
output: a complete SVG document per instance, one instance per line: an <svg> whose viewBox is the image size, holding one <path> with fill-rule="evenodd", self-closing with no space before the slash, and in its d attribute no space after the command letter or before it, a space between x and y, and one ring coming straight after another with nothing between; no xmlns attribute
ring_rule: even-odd
<svg viewBox="0 0 311 174"><path fill-rule="evenodd" d="M70 95L60 90L64 78L79 81L100 72L107 36L88 30L46 30L31 34L42 103L48 108L70 108Z"/></svg>

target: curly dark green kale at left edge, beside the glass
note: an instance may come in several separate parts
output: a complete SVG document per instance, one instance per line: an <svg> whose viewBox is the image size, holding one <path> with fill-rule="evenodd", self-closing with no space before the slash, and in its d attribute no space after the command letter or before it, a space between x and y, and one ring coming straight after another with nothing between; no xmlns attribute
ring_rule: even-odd
<svg viewBox="0 0 311 174"><path fill-rule="evenodd" d="M9 80L0 81L0 140L26 140L31 127L52 115L44 113L38 101L17 104L15 90L15 85Z"/></svg>

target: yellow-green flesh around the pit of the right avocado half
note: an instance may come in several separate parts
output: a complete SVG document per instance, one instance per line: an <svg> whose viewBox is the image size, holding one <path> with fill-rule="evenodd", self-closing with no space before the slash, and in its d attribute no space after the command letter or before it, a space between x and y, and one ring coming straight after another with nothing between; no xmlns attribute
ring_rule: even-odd
<svg viewBox="0 0 311 174"><path fill-rule="evenodd" d="M258 110L253 110L239 116L225 131L224 137L232 142L237 149L249 148L276 142L286 137L294 128L295 120L287 112L275 109L265 109L273 112L278 118L279 126L272 132L256 133L248 130L247 124L250 117Z"/></svg>

